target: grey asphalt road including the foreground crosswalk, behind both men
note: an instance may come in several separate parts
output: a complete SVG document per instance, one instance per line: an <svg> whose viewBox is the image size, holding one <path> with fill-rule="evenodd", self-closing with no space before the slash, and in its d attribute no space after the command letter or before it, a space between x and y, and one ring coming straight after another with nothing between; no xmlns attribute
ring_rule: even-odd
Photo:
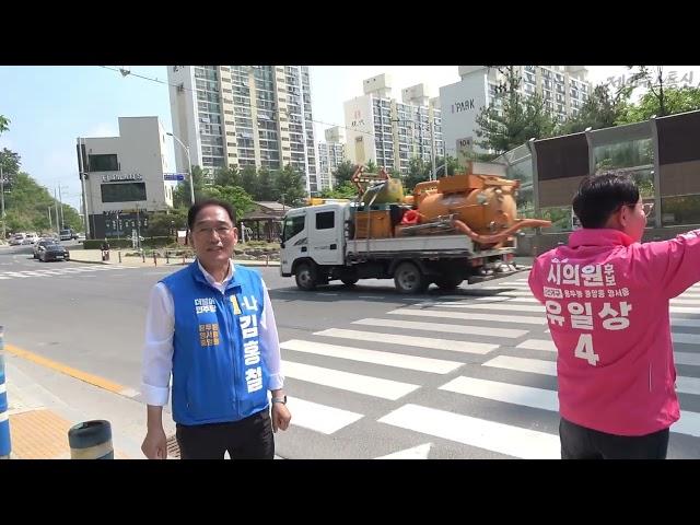
<svg viewBox="0 0 700 525"><path fill-rule="evenodd" d="M5 342L138 389L149 292L174 269L0 247ZM558 457L556 353L526 272L404 296L376 280L301 292L277 267L258 271L293 418L277 434L282 457ZM700 308L672 316L685 413L669 457L700 458Z"/></svg>

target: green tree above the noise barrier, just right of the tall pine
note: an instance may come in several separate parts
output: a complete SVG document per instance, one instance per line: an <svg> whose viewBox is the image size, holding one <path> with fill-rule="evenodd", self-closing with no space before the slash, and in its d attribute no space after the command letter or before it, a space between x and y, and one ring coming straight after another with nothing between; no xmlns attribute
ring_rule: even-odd
<svg viewBox="0 0 700 525"><path fill-rule="evenodd" d="M627 92L614 95L604 85L596 85L591 96L583 103L579 114L569 117L559 127L558 135L570 135L585 131L586 128L603 129L615 126L627 108Z"/></svg>

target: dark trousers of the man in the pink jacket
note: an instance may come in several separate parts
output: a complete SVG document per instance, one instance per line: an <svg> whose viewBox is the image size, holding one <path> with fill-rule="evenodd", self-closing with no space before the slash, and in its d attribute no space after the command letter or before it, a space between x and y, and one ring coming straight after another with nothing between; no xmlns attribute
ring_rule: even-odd
<svg viewBox="0 0 700 525"><path fill-rule="evenodd" d="M561 418L562 459L666 459L668 429L646 435L615 435Z"/></svg>

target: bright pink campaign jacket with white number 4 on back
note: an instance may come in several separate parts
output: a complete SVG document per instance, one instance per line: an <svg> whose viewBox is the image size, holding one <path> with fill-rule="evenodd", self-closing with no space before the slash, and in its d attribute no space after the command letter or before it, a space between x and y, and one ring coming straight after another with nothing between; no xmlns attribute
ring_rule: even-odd
<svg viewBox="0 0 700 525"><path fill-rule="evenodd" d="M583 229L537 258L529 287L558 349L564 419L617 435L679 419L668 300L698 281L700 230L640 244Z"/></svg>

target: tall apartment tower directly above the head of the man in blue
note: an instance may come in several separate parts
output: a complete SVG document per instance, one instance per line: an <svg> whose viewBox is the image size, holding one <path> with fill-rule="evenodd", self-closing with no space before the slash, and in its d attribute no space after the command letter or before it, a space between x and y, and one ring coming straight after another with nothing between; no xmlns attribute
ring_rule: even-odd
<svg viewBox="0 0 700 525"><path fill-rule="evenodd" d="M173 132L191 163L213 172L254 165L302 172L319 187L306 66L168 66ZM187 156L176 148L177 170Z"/></svg>

